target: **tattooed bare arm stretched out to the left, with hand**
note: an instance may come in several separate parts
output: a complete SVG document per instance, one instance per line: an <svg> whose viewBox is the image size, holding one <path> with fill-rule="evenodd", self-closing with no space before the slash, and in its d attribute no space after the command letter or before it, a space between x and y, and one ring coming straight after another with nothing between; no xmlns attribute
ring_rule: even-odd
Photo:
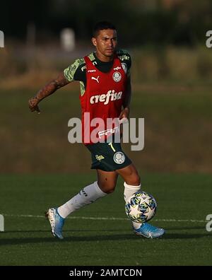
<svg viewBox="0 0 212 280"><path fill-rule="evenodd" d="M50 81L50 83L47 83L47 85L44 86L44 88L41 88L40 91L38 91L38 93L33 98L30 98L28 102L30 111L37 111L38 113L40 113L38 103L40 103L42 99L54 93L54 91L57 91L58 88L66 86L68 83L69 81L66 80L64 73L61 72L59 76L57 76L57 78Z"/></svg>

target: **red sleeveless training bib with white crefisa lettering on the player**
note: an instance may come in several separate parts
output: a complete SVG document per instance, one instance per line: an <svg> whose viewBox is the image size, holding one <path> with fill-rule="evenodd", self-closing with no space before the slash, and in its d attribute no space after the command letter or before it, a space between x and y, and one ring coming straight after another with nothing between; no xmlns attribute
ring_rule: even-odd
<svg viewBox="0 0 212 280"><path fill-rule="evenodd" d="M122 112L126 91L126 74L117 56L109 72L98 70L89 57L86 62L86 91L80 95L82 108L82 136L84 144L106 141L119 132L117 118ZM112 119L116 119L112 122Z"/></svg>

